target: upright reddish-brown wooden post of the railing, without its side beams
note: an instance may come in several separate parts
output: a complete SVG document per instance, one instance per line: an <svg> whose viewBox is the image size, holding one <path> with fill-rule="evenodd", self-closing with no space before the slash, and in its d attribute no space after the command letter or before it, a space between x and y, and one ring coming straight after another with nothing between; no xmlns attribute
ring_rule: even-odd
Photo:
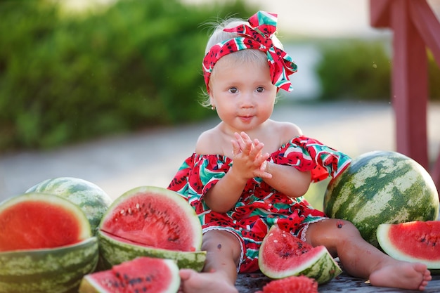
<svg viewBox="0 0 440 293"><path fill-rule="evenodd" d="M410 20L408 0L392 2L394 29L392 103L396 115L397 151L429 170L427 152L427 54Z"/></svg>

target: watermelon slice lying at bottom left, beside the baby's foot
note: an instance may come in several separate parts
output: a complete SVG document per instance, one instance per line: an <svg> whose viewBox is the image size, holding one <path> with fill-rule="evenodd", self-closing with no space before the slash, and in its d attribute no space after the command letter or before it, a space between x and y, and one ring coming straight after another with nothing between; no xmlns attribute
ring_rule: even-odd
<svg viewBox="0 0 440 293"><path fill-rule="evenodd" d="M170 259L139 257L108 271L85 275L79 293L176 293L179 267Z"/></svg>

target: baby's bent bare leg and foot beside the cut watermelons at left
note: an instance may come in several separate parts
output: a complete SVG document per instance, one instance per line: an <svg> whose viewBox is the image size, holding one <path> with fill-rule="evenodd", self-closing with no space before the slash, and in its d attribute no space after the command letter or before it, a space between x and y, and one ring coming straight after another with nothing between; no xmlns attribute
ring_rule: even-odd
<svg viewBox="0 0 440 293"><path fill-rule="evenodd" d="M207 259L202 273L181 269L181 290L184 293L238 293L235 288L240 241L232 233L210 230L203 235L202 250Z"/></svg>

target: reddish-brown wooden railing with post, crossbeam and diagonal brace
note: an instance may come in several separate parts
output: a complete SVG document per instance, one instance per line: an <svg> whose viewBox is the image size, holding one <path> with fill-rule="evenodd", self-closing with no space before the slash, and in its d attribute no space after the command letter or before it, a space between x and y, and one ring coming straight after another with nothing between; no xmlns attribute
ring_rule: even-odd
<svg viewBox="0 0 440 293"><path fill-rule="evenodd" d="M440 66L440 22L426 0L370 0L370 25L394 32L392 105L397 151L425 167L440 191L440 153L430 166L427 145L427 48Z"/></svg>

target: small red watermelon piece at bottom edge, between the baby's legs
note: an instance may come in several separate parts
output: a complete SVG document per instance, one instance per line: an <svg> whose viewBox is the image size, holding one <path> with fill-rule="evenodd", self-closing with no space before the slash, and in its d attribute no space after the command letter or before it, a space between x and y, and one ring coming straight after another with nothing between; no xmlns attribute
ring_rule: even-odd
<svg viewBox="0 0 440 293"><path fill-rule="evenodd" d="M273 280L255 293L318 293L318 283L305 275Z"/></svg>

